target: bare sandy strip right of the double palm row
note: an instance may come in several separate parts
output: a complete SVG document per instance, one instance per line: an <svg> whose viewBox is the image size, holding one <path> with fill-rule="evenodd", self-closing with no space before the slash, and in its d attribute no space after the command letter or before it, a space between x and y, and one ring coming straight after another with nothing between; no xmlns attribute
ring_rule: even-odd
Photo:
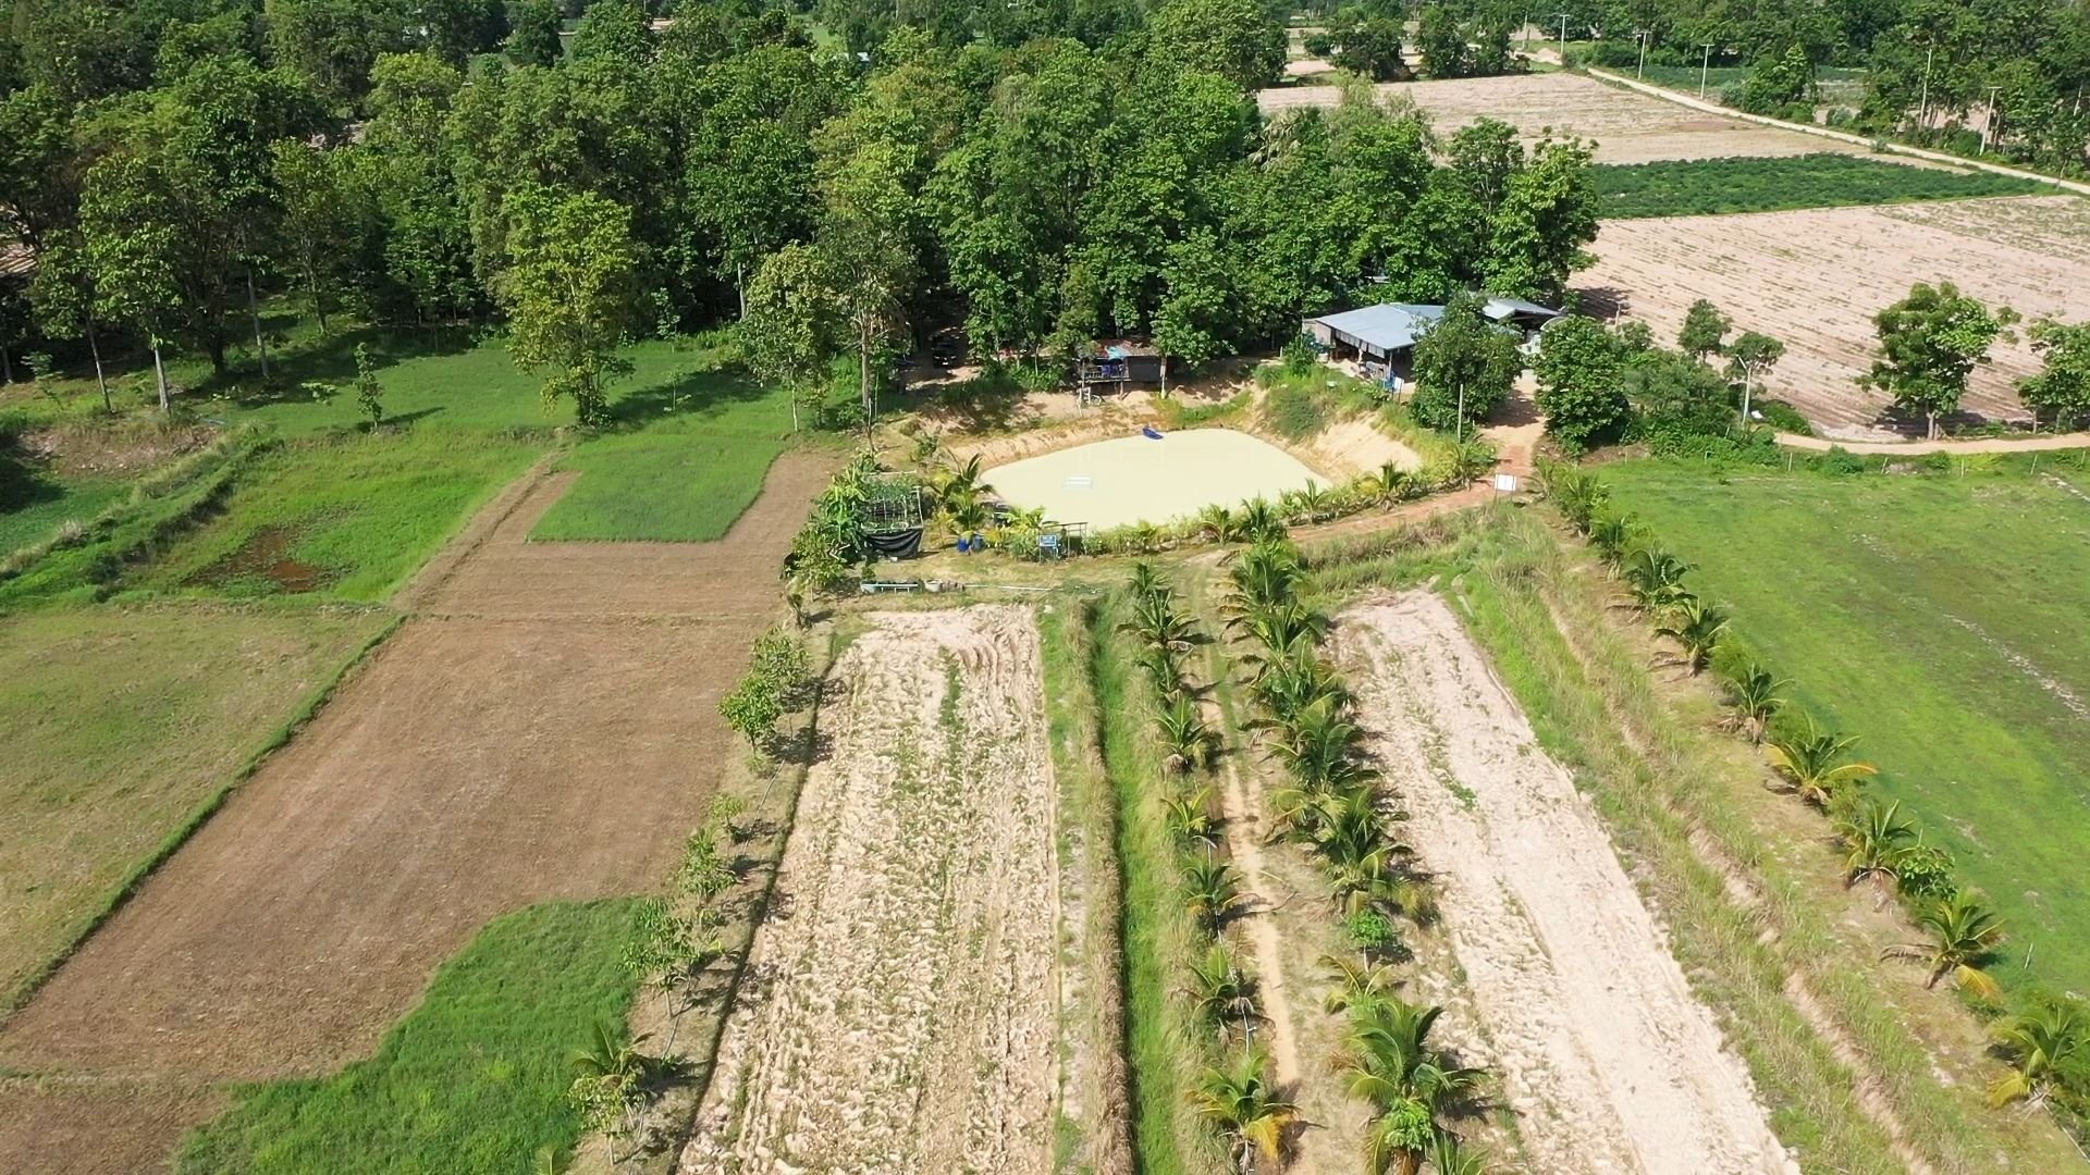
<svg viewBox="0 0 2090 1175"><path fill-rule="evenodd" d="M1528 1169L1797 1175L1574 780L1438 596L1344 613L1371 746L1436 874Z"/></svg>

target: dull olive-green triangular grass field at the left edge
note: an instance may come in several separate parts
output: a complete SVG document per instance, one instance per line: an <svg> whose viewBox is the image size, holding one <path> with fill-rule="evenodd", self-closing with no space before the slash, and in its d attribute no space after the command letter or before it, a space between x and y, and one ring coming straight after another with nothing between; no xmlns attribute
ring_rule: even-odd
<svg viewBox="0 0 2090 1175"><path fill-rule="evenodd" d="M0 1008L387 623L222 606L0 619Z"/></svg>

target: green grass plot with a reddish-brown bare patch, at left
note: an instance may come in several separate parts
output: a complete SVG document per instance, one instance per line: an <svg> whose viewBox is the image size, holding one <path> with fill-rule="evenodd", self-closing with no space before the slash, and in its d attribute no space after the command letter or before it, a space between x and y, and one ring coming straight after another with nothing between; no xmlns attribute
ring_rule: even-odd
<svg viewBox="0 0 2090 1175"><path fill-rule="evenodd" d="M382 600L543 447L420 429L291 441L255 460L215 516L125 585Z"/></svg>

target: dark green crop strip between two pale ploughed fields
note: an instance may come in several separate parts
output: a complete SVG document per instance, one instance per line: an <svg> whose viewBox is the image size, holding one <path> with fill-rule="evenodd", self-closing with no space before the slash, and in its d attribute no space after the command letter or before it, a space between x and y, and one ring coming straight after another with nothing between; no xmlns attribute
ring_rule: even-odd
<svg viewBox="0 0 2090 1175"><path fill-rule="evenodd" d="M2040 190L2029 180L1988 171L1910 167L1829 151L1599 165L1595 178L1609 220L2021 197Z"/></svg>

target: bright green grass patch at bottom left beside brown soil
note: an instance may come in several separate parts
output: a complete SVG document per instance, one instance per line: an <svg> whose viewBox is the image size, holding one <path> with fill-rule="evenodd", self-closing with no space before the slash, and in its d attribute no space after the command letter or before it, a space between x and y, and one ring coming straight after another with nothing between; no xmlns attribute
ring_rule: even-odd
<svg viewBox="0 0 2090 1175"><path fill-rule="evenodd" d="M571 1150L581 1135L571 1056L596 1022L621 1027L631 1008L621 955L640 905L548 903L491 922L374 1058L247 1089L190 1133L176 1171L506 1175L531 1169L541 1148Z"/></svg>

